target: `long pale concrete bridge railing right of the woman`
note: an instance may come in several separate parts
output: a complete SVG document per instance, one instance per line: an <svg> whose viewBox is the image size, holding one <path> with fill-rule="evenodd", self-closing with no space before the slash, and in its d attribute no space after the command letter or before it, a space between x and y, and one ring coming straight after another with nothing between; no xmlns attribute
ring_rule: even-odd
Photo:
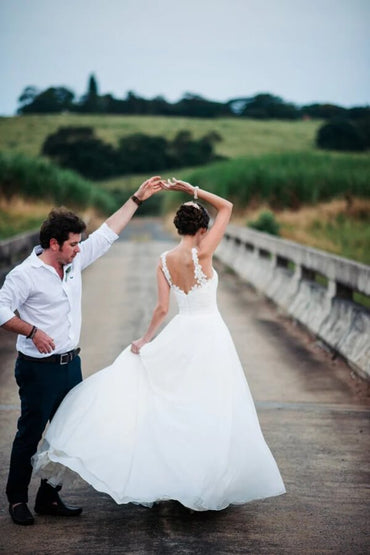
<svg viewBox="0 0 370 555"><path fill-rule="evenodd" d="M216 254L370 378L370 311L353 300L370 296L370 266L234 225Z"/></svg>

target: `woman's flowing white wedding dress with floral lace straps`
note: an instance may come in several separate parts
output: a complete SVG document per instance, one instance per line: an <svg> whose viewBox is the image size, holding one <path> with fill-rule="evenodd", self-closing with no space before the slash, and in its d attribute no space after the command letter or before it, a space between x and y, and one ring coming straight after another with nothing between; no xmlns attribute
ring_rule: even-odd
<svg viewBox="0 0 370 555"><path fill-rule="evenodd" d="M36 474L58 485L72 470L117 503L173 499L197 511L285 492L217 309L217 273L207 279L192 255L188 293L161 256L179 313L139 355L127 347L70 391L33 457Z"/></svg>

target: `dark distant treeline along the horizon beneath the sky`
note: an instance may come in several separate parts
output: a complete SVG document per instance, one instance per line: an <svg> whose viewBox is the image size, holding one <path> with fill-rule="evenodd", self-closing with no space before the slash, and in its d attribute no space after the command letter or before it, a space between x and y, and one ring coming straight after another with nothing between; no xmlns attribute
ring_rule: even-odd
<svg viewBox="0 0 370 555"><path fill-rule="evenodd" d="M252 97L233 98L226 102L207 100L196 94L186 93L177 102L168 102L163 96L145 99L134 92L125 98L115 98L111 94L99 94L97 81L91 75L86 93L76 98L66 87L49 87L39 91L26 87L19 97L19 114L50 114L76 112L81 114L136 114L183 116L197 118L242 117L253 119L302 118L358 120L370 116L369 106L344 108L335 104L309 104L297 106L269 93Z"/></svg>

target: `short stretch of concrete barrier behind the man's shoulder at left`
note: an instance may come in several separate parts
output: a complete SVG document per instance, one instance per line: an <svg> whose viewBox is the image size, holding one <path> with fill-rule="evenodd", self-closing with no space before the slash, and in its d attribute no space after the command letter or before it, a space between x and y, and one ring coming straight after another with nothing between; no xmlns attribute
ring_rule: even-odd
<svg viewBox="0 0 370 555"><path fill-rule="evenodd" d="M21 260L26 258L39 242L39 231L21 233L0 241L0 285L6 274Z"/></svg>

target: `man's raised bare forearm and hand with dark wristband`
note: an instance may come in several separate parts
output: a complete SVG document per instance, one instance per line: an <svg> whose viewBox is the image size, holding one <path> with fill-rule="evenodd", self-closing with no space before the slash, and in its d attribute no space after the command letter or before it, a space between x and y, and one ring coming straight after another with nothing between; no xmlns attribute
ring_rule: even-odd
<svg viewBox="0 0 370 555"><path fill-rule="evenodd" d="M138 188L136 193L130 197L125 204L121 206L112 214L105 223L115 232L117 235L126 227L128 222L131 220L132 216L135 214L136 210L144 200L147 200L154 193L161 190L161 178L156 175L144 181L142 185Z"/></svg>

